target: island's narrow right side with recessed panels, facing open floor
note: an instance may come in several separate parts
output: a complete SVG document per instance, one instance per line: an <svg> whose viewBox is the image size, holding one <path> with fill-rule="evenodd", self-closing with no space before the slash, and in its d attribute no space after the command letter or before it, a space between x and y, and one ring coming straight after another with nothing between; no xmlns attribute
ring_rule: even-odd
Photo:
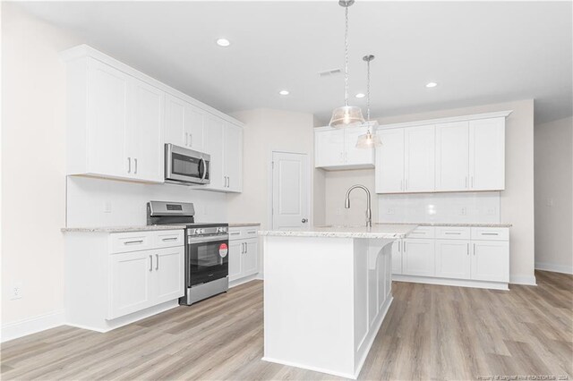
<svg viewBox="0 0 573 381"><path fill-rule="evenodd" d="M392 302L390 239L355 239L355 377Z"/></svg>

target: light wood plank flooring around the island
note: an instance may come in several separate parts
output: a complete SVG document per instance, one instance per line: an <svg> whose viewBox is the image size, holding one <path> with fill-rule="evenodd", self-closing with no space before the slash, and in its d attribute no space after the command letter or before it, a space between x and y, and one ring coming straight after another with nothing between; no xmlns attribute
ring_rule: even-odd
<svg viewBox="0 0 573 381"><path fill-rule="evenodd" d="M509 292L394 283L360 379L573 380L573 276L536 276ZM107 334L61 326L4 343L1 370L4 380L337 379L262 361L262 344L253 281Z"/></svg>

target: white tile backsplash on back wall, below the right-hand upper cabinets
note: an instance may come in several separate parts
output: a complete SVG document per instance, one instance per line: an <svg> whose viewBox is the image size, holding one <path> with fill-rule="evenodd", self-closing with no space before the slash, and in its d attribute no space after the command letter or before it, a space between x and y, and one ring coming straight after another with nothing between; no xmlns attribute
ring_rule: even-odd
<svg viewBox="0 0 573 381"><path fill-rule="evenodd" d="M384 223L500 223L500 192L390 194L378 196Z"/></svg>

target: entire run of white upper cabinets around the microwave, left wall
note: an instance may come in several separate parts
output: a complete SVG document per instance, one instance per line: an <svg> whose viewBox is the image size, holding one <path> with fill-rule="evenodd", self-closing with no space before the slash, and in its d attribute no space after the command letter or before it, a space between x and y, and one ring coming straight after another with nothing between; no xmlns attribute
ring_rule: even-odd
<svg viewBox="0 0 573 381"><path fill-rule="evenodd" d="M201 188L242 190L239 121L86 45L61 55L66 174L164 182L167 142L211 154L213 185Z"/></svg>

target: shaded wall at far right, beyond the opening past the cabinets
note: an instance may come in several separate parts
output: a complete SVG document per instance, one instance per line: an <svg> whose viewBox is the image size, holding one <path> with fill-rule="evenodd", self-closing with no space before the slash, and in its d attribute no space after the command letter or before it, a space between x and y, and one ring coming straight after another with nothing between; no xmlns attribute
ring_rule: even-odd
<svg viewBox="0 0 573 381"><path fill-rule="evenodd" d="M535 126L535 268L573 274L573 119Z"/></svg>

